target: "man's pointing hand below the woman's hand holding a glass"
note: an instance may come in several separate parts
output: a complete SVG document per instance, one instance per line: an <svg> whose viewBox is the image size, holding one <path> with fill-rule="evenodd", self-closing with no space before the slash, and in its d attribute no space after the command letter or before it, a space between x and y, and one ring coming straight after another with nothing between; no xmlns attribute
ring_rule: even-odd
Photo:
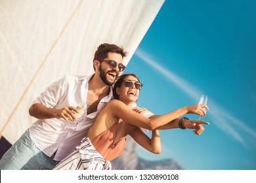
<svg viewBox="0 0 256 183"><path fill-rule="evenodd" d="M209 125L208 122L202 120L182 120L182 124L186 128L195 129L193 132L196 135L200 135L204 131L202 124Z"/></svg>

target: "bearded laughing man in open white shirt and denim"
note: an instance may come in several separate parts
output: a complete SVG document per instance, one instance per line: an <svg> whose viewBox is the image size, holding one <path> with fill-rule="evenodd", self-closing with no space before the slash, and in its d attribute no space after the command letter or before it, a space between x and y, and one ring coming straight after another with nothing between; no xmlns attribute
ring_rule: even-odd
<svg viewBox="0 0 256 183"><path fill-rule="evenodd" d="M112 99L111 86L125 69L126 55L115 44L100 44L93 59L94 75L66 75L41 93L29 109L38 120L1 158L0 169L53 169L73 152ZM87 109L81 118L75 116L77 105Z"/></svg>

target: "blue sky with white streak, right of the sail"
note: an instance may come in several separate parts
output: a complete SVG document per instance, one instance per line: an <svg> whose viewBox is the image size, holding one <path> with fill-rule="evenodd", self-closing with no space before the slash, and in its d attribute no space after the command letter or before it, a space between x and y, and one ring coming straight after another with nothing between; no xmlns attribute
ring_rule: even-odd
<svg viewBox="0 0 256 183"><path fill-rule="evenodd" d="M125 72L144 84L138 101L155 114L208 95L202 135L161 131L162 153L185 169L256 169L255 1L166 0ZM188 118L197 119L194 114Z"/></svg>

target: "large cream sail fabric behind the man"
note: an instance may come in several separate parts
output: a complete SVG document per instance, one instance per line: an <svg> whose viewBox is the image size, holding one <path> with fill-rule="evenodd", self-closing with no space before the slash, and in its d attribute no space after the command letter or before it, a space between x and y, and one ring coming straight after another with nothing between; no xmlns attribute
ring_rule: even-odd
<svg viewBox="0 0 256 183"><path fill-rule="evenodd" d="M129 53L164 0L1 0L0 133L13 144L35 121L32 101L66 74L91 75L98 45Z"/></svg>

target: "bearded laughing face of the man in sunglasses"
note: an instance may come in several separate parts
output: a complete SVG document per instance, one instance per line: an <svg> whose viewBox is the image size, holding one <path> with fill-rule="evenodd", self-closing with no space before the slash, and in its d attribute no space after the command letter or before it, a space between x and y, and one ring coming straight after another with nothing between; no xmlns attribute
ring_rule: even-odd
<svg viewBox="0 0 256 183"><path fill-rule="evenodd" d="M120 54L116 53L108 53L108 57L105 58L106 61L100 61L100 67L98 71L100 73L100 78L104 82L104 84L111 86L114 84L116 77L119 75L118 64L123 63L123 58ZM110 67L108 60L116 61L116 67L113 69Z"/></svg>

